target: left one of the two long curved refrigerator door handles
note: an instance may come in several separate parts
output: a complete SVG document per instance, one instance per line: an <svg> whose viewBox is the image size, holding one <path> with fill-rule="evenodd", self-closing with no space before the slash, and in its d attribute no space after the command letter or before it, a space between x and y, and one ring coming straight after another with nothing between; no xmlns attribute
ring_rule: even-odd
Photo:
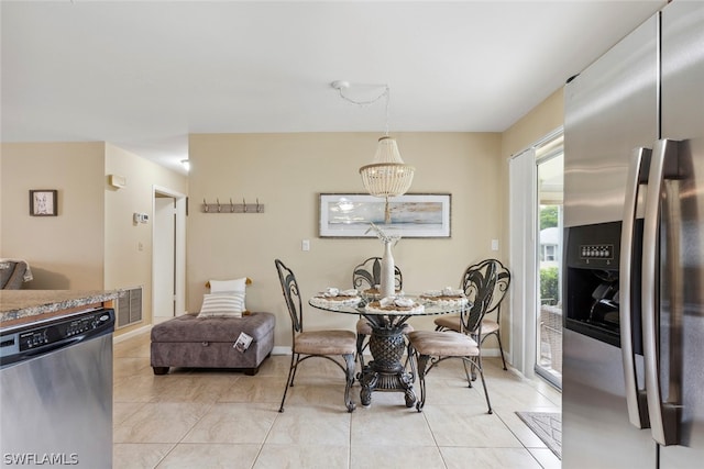
<svg viewBox="0 0 704 469"><path fill-rule="evenodd" d="M624 380L626 384L626 404L628 420L636 428L649 428L648 402L645 390L638 389L636 358L634 355L632 333L632 260L634 231L636 225L636 209L638 206L638 189L640 183L647 182L647 168L650 165L650 148L636 148L632 152L628 179L626 181L626 200L624 203L624 217L620 233L620 266L619 266L619 324L620 324L620 351L624 364Z"/></svg>

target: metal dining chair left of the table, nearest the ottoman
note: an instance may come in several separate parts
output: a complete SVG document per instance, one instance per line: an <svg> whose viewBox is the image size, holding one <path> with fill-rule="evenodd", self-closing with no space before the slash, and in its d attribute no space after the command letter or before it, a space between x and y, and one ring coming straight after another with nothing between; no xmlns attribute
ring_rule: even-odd
<svg viewBox="0 0 704 469"><path fill-rule="evenodd" d="M355 404L352 402L350 391L354 382L354 355L356 353L356 336L352 331L305 331L304 310L300 299L300 289L294 272L279 259L274 260L278 280L284 292L284 300L288 308L292 321L292 357L290 369L282 398L282 405L278 412L284 412L284 402L288 388L294 386L298 365L308 358L326 358L336 364L345 376L344 403L348 412L354 411ZM333 357L341 356L341 362Z"/></svg>

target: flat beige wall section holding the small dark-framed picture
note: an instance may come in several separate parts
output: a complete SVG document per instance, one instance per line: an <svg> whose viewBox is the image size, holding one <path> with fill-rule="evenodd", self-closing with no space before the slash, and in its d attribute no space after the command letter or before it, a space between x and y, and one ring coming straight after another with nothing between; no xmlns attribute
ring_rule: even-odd
<svg viewBox="0 0 704 469"><path fill-rule="evenodd" d="M26 259L34 290L102 289L103 143L2 144L0 256ZM58 190L58 216L30 216L30 189Z"/></svg>

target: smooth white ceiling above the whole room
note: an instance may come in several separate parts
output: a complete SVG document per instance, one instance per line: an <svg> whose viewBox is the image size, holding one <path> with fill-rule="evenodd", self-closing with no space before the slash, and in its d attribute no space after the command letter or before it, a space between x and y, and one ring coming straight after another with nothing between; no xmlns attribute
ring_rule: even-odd
<svg viewBox="0 0 704 469"><path fill-rule="evenodd" d="M502 132L664 1L6 1L2 142L106 141L179 170L189 133Z"/></svg>

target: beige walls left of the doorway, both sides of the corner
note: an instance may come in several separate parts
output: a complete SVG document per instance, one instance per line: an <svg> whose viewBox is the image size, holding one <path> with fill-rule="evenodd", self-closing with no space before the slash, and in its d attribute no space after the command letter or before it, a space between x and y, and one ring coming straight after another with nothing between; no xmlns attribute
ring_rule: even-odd
<svg viewBox="0 0 704 469"><path fill-rule="evenodd" d="M0 257L26 259L32 290L94 290L144 286L144 321L152 321L154 186L186 193L187 178L106 143L2 144ZM108 175L127 177L114 189ZM30 216L29 190L57 189L58 216ZM140 243L142 250L139 249Z"/></svg>

